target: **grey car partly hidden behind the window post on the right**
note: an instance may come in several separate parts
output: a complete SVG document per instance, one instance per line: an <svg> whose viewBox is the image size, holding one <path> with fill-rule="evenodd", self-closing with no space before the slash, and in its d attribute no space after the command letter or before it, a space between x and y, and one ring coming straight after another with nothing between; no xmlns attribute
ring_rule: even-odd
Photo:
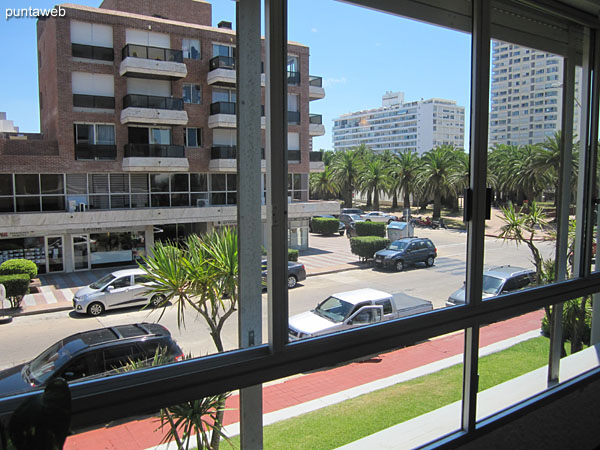
<svg viewBox="0 0 600 450"><path fill-rule="evenodd" d="M483 298L495 297L526 288L535 281L535 270L515 266L497 266L483 271ZM446 306L465 304L465 287L453 292Z"/></svg>

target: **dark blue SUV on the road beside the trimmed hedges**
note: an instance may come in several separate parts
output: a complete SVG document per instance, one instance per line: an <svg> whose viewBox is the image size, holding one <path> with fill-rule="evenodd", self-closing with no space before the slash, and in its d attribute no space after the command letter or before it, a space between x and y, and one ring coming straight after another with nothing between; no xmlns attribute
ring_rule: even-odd
<svg viewBox="0 0 600 450"><path fill-rule="evenodd" d="M437 258L437 249L431 239L403 238L392 242L385 250L375 253L375 265L392 267L400 272L407 265L419 262L431 267L435 258Z"/></svg>

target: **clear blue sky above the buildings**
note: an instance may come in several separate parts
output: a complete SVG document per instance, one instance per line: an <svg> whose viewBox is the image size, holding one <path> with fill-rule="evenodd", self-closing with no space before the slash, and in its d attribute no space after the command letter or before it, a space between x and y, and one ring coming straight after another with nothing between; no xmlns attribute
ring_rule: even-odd
<svg viewBox="0 0 600 450"><path fill-rule="evenodd" d="M51 8L47 0L3 1L0 39L5 45L0 72L0 111L23 132L39 131L36 20L5 20L7 8ZM99 6L100 0L73 3ZM235 25L235 2L214 0L213 25ZM469 118L470 36L333 0L289 0L288 37L310 47L310 73L323 77L325 98L312 101L323 115L326 134L313 148L332 149L333 118L381 106L386 91L405 100L456 100ZM9 43L8 45L6 43ZM465 124L468 143L469 124Z"/></svg>

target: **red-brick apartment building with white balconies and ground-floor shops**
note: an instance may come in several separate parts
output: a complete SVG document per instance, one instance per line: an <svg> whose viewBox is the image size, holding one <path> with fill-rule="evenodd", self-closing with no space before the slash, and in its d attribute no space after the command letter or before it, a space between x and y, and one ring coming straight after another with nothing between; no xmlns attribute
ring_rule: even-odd
<svg viewBox="0 0 600 450"><path fill-rule="evenodd" d="M41 133L0 133L0 262L126 265L155 240L235 224L231 24L212 27L196 0L62 7L37 25ZM324 134L309 104L325 93L308 47L288 53L289 244L306 248L309 218L339 207L309 202L308 175L323 170L311 139Z"/></svg>

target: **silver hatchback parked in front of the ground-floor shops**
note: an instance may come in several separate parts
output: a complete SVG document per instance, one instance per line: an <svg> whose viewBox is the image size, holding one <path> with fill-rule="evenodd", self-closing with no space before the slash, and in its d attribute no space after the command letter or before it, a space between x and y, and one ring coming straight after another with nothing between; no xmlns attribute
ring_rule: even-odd
<svg viewBox="0 0 600 450"><path fill-rule="evenodd" d="M160 306L165 296L151 294L149 282L148 274L142 269L117 270L79 289L73 297L73 309L77 313L99 316L108 309Z"/></svg>

